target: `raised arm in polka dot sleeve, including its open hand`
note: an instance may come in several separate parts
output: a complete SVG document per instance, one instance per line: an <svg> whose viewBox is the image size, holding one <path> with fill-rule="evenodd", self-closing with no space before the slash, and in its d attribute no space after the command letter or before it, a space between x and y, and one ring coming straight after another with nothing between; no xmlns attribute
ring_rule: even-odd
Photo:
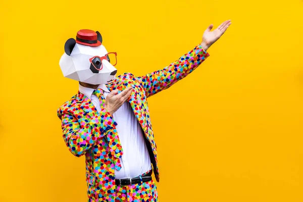
<svg viewBox="0 0 303 202"><path fill-rule="evenodd" d="M203 34L202 42L187 54L162 70L137 77L145 89L146 97L169 88L195 70L209 57L207 49L223 35L230 24L231 21L227 20L212 32L213 25L210 25Z"/></svg>

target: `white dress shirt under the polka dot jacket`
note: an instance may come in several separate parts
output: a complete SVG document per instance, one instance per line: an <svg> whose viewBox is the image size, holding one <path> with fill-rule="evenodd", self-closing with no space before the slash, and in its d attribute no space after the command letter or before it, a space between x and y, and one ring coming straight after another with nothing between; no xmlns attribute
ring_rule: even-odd
<svg viewBox="0 0 303 202"><path fill-rule="evenodd" d="M103 90L104 97L110 93L105 84L100 84L98 88ZM86 95L95 106L98 112L101 111L100 102L94 89L86 88L79 84L79 91ZM116 179L134 178L151 169L151 162L148 150L144 141L142 128L137 121L130 104L126 101L113 114L117 122L117 132L123 149L120 171L115 170Z"/></svg>

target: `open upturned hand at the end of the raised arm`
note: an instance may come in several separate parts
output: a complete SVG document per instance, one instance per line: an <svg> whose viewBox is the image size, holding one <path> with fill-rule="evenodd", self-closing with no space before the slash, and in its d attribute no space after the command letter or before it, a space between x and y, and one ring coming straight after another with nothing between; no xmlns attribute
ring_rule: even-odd
<svg viewBox="0 0 303 202"><path fill-rule="evenodd" d="M213 43L215 43L231 25L231 20L226 20L217 29L211 32L214 25L211 24L204 32L202 37L201 46L206 51Z"/></svg>

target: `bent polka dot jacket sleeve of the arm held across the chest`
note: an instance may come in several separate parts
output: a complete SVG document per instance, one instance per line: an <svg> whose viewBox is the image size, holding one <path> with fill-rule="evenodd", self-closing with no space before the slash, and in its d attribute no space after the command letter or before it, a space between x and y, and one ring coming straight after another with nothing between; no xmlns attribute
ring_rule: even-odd
<svg viewBox="0 0 303 202"><path fill-rule="evenodd" d="M82 99L78 98L79 102L82 102ZM94 114L90 106L92 104L87 98L85 100L86 103L80 104L75 101L66 103L58 111L62 120L63 138L76 157L84 155L96 140L104 137L106 131L114 129L117 125L108 112Z"/></svg>

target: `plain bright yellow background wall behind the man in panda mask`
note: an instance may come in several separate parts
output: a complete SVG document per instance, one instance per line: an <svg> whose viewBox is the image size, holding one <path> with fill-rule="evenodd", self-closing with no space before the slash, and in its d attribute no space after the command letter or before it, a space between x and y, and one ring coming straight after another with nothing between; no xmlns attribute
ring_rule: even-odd
<svg viewBox="0 0 303 202"><path fill-rule="evenodd" d="M57 109L77 92L64 43L102 33L118 73L164 68L231 19L210 57L149 98L159 201L303 201L303 2L4 1L0 201L86 201Z"/></svg>

